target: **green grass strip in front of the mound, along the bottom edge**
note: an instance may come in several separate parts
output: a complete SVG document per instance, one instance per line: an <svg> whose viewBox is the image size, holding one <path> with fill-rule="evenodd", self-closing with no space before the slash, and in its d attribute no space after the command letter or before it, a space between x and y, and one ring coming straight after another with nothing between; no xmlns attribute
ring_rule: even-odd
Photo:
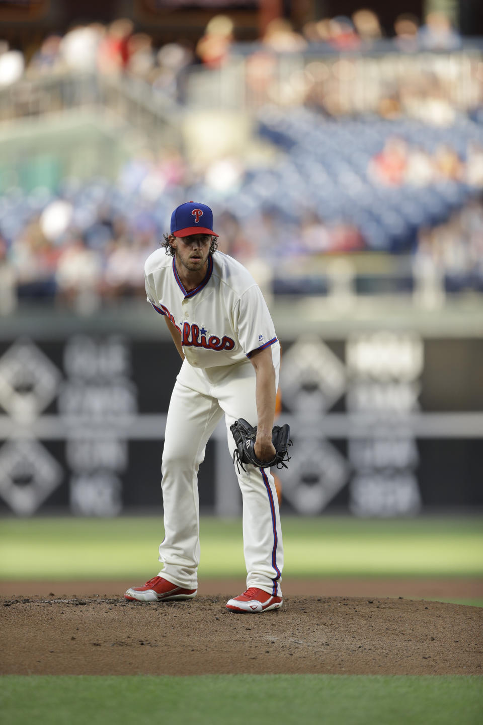
<svg viewBox="0 0 483 725"><path fill-rule="evenodd" d="M479 676L4 676L4 722L15 725L476 725Z"/></svg>

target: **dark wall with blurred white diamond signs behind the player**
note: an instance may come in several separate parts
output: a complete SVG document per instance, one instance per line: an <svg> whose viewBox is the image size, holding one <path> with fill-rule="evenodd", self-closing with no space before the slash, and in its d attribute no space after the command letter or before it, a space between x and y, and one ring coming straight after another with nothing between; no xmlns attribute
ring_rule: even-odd
<svg viewBox="0 0 483 725"><path fill-rule="evenodd" d="M164 325L160 336L118 327L52 318L49 329L0 339L2 514L161 508L180 360ZM481 337L373 327L331 339L314 326L281 342L280 418L294 442L282 510L397 516L483 505ZM199 483L202 510L240 513L224 424Z"/></svg>

